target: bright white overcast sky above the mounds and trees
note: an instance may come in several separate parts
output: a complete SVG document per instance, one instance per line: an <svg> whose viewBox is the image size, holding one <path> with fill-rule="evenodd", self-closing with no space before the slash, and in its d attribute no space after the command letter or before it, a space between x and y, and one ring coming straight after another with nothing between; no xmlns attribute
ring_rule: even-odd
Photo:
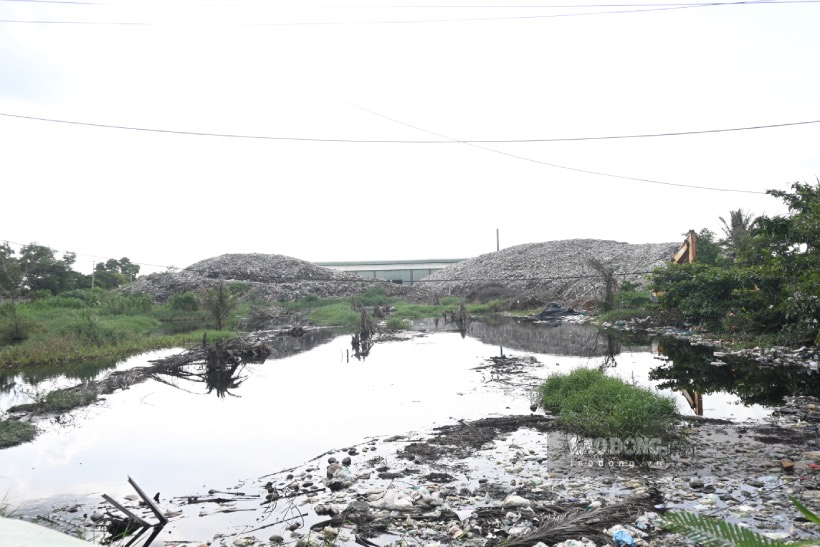
<svg viewBox="0 0 820 547"><path fill-rule="evenodd" d="M820 120L820 3L544 17L640 8L580 7L597 0L215 2L0 0L0 19L38 21L0 22L0 113L363 140ZM561 3L572 7L543 7ZM820 175L820 123L479 146L756 192ZM682 241L690 228L718 231L718 216L731 209L783 212L766 195L578 173L456 142L221 138L7 116L0 177L0 240L77 252L81 271L106 258L184 267L228 252L463 258L495 250L496 229L502 247Z"/></svg>

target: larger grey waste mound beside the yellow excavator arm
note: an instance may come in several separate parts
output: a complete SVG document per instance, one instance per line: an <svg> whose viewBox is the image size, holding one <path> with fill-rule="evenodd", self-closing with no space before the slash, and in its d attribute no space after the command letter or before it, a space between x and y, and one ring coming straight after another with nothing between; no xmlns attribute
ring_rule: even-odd
<svg viewBox="0 0 820 547"><path fill-rule="evenodd" d="M424 278L419 288L437 294L496 296L584 305L595 300L603 280L590 265L598 260L614 267L619 281L643 285L652 268L672 259L679 243L633 245L598 239L568 239L526 243L459 262Z"/></svg>

